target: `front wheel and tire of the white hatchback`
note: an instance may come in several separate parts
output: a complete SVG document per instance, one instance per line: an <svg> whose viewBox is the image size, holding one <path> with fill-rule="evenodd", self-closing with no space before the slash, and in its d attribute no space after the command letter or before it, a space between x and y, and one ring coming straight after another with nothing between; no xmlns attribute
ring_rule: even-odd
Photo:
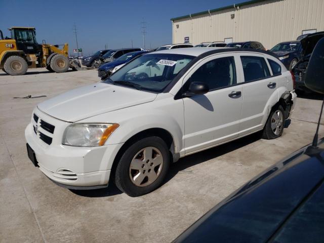
<svg viewBox="0 0 324 243"><path fill-rule="evenodd" d="M115 170L115 184L129 196L147 194L163 183L169 165L170 154L164 140L143 138L128 147L121 156Z"/></svg>

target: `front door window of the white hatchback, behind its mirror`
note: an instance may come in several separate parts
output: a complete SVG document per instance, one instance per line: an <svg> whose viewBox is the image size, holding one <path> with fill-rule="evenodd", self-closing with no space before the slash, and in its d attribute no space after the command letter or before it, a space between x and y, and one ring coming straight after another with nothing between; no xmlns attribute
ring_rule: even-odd
<svg viewBox="0 0 324 243"><path fill-rule="evenodd" d="M210 90L235 85L234 57L217 58L205 63L192 74L190 82L205 82Z"/></svg>

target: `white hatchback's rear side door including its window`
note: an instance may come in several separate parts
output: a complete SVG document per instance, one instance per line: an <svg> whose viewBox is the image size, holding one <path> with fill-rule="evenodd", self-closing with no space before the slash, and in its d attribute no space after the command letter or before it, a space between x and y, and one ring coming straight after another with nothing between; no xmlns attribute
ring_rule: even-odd
<svg viewBox="0 0 324 243"><path fill-rule="evenodd" d="M263 129L271 104L278 100L279 84L263 54L241 53L239 68L244 74L239 128L239 136L243 136Z"/></svg>

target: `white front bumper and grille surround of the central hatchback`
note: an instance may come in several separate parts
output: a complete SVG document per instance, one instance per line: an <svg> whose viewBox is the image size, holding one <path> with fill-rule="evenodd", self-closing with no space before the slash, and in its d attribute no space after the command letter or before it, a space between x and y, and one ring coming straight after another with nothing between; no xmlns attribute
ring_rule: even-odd
<svg viewBox="0 0 324 243"><path fill-rule="evenodd" d="M114 158L123 144L100 147L73 147L61 144L64 127L69 123L55 119L35 109L39 119L55 125L53 142L48 145L39 139L33 123L25 130L25 138L34 150L41 170L59 185L76 189L94 189L108 184ZM64 126L65 125L65 126ZM38 128L42 132L42 128Z"/></svg>

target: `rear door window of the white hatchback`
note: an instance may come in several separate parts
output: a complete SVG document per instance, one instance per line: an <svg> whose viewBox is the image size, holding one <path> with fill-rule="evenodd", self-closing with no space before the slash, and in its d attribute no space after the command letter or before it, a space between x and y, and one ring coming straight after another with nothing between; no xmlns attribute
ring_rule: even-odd
<svg viewBox="0 0 324 243"><path fill-rule="evenodd" d="M245 82L251 82L270 76L263 57L241 56Z"/></svg>

